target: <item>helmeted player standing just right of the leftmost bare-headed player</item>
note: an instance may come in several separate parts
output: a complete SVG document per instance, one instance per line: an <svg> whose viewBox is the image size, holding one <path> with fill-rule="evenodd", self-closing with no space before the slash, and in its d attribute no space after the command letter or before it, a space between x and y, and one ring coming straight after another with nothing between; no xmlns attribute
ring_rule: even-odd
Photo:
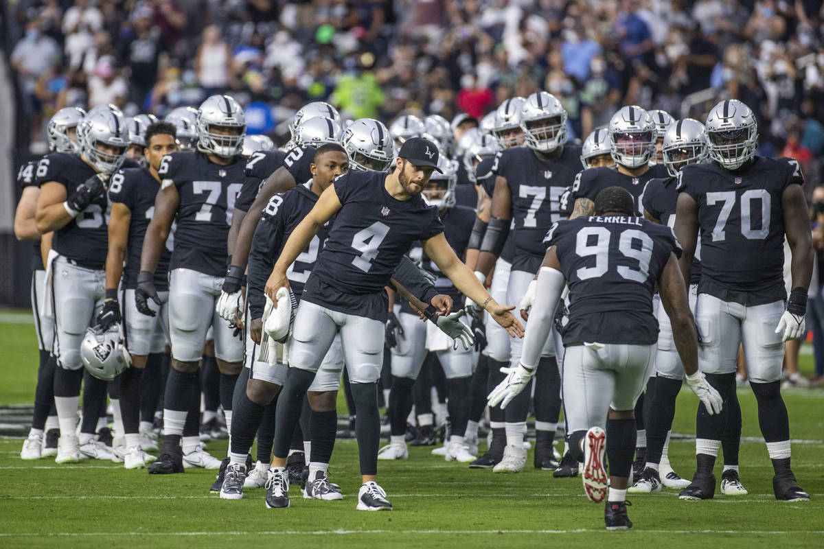
<svg viewBox="0 0 824 549"><path fill-rule="evenodd" d="M168 300L172 368L164 395L163 446L160 457L148 468L152 473L183 472L184 463L219 467L220 462L204 451L199 436L184 436L188 414L197 417L190 423L199 429L199 362L208 329L214 333L227 428L232 425L232 393L243 361L243 341L214 309L226 275L227 236L241 187L234 182L241 180L245 165L241 156L246 133L243 109L228 95L208 97L198 109L197 133L198 151L174 152L160 163L161 191L143 240L134 291L138 312L157 314L149 301L162 305L154 278L176 219Z"/></svg>

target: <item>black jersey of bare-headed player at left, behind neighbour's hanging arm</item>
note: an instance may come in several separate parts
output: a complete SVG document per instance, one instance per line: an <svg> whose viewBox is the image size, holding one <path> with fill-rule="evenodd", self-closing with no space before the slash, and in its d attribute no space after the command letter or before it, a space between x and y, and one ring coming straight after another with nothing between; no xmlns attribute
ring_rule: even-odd
<svg viewBox="0 0 824 549"><path fill-rule="evenodd" d="M129 242L127 244L126 266L123 269L123 286L135 288L140 272L140 254L149 222L154 217L154 202L160 183L146 168L127 168L111 176L109 183L110 202L120 202L132 212L129 221ZM169 262L171 252L163 248L160 261L155 269L154 284L158 290L169 288Z"/></svg>

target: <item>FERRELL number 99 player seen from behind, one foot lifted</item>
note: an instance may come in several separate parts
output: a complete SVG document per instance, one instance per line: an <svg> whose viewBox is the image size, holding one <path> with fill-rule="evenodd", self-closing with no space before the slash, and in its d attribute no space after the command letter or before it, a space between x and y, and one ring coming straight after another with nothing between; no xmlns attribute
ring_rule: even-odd
<svg viewBox="0 0 824 549"><path fill-rule="evenodd" d="M675 235L669 227L634 216L634 210L629 192L608 187L595 198L595 216L552 226L523 354L489 395L490 406L501 402L505 407L528 386L568 283L570 318L563 339L569 450L583 462L587 497L596 503L607 500L608 530L632 528L625 500L635 444L633 413L655 357L656 285L672 320L687 384L710 413L721 410L719 393L698 370L695 321L678 269L681 249Z"/></svg>

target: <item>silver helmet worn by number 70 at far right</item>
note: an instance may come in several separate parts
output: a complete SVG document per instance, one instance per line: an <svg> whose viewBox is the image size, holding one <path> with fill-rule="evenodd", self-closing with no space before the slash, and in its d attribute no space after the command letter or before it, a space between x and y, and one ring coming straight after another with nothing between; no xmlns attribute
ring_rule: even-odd
<svg viewBox="0 0 824 549"><path fill-rule="evenodd" d="M741 101L715 105L704 124L709 157L727 170L736 170L756 154L758 126L755 114Z"/></svg>

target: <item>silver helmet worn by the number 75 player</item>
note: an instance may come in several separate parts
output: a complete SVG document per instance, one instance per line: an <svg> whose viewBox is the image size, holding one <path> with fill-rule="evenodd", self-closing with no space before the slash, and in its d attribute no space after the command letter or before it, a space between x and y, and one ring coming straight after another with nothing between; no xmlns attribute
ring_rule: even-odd
<svg viewBox="0 0 824 549"><path fill-rule="evenodd" d="M551 152L566 142L567 112L555 95L545 91L527 97L521 108L521 129L527 147Z"/></svg>

